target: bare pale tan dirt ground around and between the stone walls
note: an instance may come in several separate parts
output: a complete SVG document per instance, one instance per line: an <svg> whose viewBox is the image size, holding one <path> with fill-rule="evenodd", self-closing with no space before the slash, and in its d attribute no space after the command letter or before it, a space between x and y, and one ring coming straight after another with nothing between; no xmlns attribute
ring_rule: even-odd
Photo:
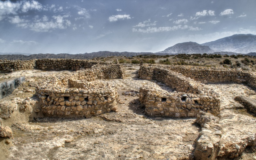
<svg viewBox="0 0 256 160"><path fill-rule="evenodd" d="M35 86L38 80L70 71L23 70L7 75L0 80L26 76L12 95L0 100L16 103L12 116L3 121L11 127L11 143L0 139L0 159L193 159L195 140L200 126L195 118L149 117L138 96L123 95L123 92L139 91L140 86L151 85L172 92L172 89L156 81L137 78L139 65L124 64L125 78L107 80L119 92L118 112L102 114L87 119L50 118L31 115L37 104ZM255 149L249 141L256 139L256 116L249 113L234 100L236 95L255 98L254 89L243 84L208 84L220 94L222 146L219 159L236 154L232 148L247 146L237 159L256 159ZM20 111L20 102L33 101L31 107ZM40 117L41 116L41 117ZM231 145L232 144L232 145Z"/></svg>

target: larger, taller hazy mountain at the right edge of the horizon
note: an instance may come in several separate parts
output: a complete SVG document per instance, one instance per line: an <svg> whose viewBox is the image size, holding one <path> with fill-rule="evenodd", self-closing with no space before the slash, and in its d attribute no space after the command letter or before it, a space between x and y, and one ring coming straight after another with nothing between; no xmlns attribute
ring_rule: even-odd
<svg viewBox="0 0 256 160"><path fill-rule="evenodd" d="M239 34L224 37L216 41L207 42L202 45L209 46L215 51L248 53L256 52L256 35Z"/></svg>

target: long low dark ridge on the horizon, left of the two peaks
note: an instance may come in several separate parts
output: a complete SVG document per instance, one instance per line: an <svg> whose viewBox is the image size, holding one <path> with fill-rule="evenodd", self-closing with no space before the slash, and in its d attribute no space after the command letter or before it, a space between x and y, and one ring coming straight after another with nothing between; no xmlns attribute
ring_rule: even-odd
<svg viewBox="0 0 256 160"><path fill-rule="evenodd" d="M138 55L152 55L152 52L109 52L109 51L100 51L100 52L92 52L92 53L84 53L84 54L31 54L31 55L23 55L23 54L5 54L0 55L0 60L32 60L32 59L44 59L44 58L67 58L67 59L92 59L96 57L109 57L109 56L138 56ZM157 55L165 55L162 53L158 53Z"/></svg>

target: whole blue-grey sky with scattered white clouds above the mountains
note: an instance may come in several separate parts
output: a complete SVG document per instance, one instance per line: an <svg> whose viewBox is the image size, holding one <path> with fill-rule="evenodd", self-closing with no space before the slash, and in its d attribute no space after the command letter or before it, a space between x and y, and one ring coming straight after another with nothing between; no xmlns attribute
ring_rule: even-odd
<svg viewBox="0 0 256 160"><path fill-rule="evenodd" d="M0 52L159 52L256 35L255 0L0 0Z"/></svg>

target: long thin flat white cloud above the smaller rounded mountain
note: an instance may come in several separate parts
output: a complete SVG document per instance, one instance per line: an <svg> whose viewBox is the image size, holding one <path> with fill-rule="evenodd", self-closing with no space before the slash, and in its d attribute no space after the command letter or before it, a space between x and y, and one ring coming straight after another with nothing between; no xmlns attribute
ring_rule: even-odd
<svg viewBox="0 0 256 160"><path fill-rule="evenodd" d="M188 26L188 25L178 25L178 26L172 26L172 27L148 27L147 29L136 29L136 28L132 28L132 32L142 32L142 33L155 33L155 32L166 32L166 31L174 31L174 30L178 30L178 29L188 29L188 30L192 30L192 31L196 31L196 30L201 30L201 28L194 28L192 26Z"/></svg>

